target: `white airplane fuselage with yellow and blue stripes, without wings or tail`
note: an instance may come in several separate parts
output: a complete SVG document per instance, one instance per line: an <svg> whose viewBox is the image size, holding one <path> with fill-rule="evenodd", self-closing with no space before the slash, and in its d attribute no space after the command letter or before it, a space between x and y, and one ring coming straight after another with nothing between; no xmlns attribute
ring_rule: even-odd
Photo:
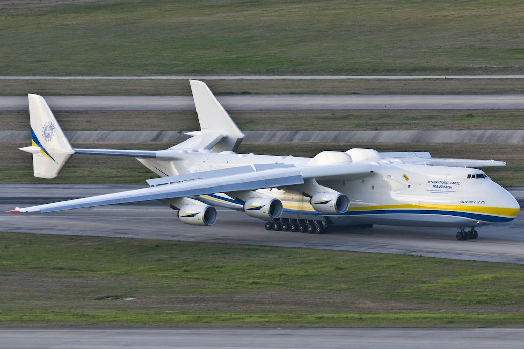
<svg viewBox="0 0 524 349"><path fill-rule="evenodd" d="M160 176L195 173L246 164L284 163L307 166L309 158L182 151L183 161L140 160ZM425 227L478 227L508 222L519 204L503 187L474 168L424 166L401 162L369 162L372 173L358 179L340 178L320 185L346 194L350 207L343 213L313 209L309 197L291 189L259 189L282 201L282 218L328 220L336 225L385 224ZM471 177L471 176L470 176ZM243 203L223 194L202 195L210 205L243 210Z"/></svg>

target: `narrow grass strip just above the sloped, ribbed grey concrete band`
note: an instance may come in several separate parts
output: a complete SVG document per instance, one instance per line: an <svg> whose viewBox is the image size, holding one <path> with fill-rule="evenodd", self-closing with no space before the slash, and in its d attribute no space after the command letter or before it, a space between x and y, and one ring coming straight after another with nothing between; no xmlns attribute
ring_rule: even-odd
<svg viewBox="0 0 524 349"><path fill-rule="evenodd" d="M241 130L522 130L523 109L232 110ZM195 111L57 110L64 130L198 130ZM28 111L0 110L2 129L28 130Z"/></svg>

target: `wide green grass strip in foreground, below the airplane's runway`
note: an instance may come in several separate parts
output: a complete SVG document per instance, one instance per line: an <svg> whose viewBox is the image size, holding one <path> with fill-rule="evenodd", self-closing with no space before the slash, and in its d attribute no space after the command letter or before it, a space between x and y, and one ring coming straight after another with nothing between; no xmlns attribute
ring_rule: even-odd
<svg viewBox="0 0 524 349"><path fill-rule="evenodd" d="M0 238L1 325L524 325L520 264L457 267L444 258L147 239Z"/></svg>

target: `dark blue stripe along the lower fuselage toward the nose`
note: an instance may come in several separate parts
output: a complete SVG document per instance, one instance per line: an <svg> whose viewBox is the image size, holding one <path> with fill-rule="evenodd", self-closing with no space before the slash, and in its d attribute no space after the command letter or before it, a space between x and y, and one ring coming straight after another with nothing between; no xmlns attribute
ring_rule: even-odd
<svg viewBox="0 0 524 349"><path fill-rule="evenodd" d="M347 211L344 213L323 213L319 211L307 211L307 210L290 210L284 209L286 213L307 213L309 215L316 216L362 216L362 215L390 215L395 213L404 214L415 214L415 215L442 215L442 216L453 216L453 217L464 217L468 219L474 219L478 221L493 222L493 223L504 223L510 222L515 218L500 217L493 215L483 215L482 213L462 212L462 211L449 211L449 210L418 210L418 209L386 209L386 210L361 210L361 211Z"/></svg>

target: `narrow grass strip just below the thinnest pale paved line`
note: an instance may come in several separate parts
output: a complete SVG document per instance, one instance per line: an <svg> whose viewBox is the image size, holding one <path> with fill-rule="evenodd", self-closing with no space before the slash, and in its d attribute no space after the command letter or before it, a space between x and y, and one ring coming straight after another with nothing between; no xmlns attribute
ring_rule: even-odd
<svg viewBox="0 0 524 349"><path fill-rule="evenodd" d="M524 93L524 79L203 80L215 94ZM9 80L0 95L191 95L187 80Z"/></svg>

